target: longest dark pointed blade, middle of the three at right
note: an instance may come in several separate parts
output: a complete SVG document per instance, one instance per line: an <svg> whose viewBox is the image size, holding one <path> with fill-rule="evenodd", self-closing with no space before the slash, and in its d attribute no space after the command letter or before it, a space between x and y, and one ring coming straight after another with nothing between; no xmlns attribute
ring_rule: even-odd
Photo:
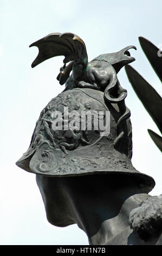
<svg viewBox="0 0 162 256"><path fill-rule="evenodd" d="M162 133L162 99L160 95L131 65L126 65L125 70L135 93Z"/></svg>

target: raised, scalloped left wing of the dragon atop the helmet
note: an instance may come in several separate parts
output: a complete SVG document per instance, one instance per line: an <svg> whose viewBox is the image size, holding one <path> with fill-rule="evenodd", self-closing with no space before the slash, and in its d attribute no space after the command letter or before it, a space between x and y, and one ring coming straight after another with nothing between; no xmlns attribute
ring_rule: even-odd
<svg viewBox="0 0 162 256"><path fill-rule="evenodd" d="M63 63L74 60L86 66L88 62L85 43L79 36L72 33L51 33L29 47L31 46L37 46L39 50L36 59L31 64L32 68L55 56L64 56Z"/></svg>

